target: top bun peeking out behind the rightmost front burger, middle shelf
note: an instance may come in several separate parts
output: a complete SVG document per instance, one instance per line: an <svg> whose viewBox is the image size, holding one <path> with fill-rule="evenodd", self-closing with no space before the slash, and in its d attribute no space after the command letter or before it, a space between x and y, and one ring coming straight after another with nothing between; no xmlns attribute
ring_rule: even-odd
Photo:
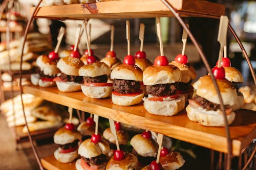
<svg viewBox="0 0 256 170"><path fill-rule="evenodd" d="M234 67L224 67L225 78L230 82L243 83L244 79L241 72Z"/></svg>

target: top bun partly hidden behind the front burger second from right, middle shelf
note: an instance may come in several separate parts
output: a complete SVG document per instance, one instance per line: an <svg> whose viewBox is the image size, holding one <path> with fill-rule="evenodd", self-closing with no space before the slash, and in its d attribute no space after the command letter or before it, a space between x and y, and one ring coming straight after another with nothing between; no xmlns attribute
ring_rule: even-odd
<svg viewBox="0 0 256 170"><path fill-rule="evenodd" d="M195 68L191 65L182 64L176 61L172 61L169 63L170 65L175 65L181 70L181 79L180 82L187 83L191 79L196 79L197 72Z"/></svg>

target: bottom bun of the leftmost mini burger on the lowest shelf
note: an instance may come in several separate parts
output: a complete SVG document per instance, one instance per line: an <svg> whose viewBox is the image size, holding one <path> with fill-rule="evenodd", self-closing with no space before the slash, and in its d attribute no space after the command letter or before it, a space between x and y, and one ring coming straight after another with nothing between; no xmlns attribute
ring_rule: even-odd
<svg viewBox="0 0 256 170"><path fill-rule="evenodd" d="M54 152L55 159L57 159L59 162L62 162L62 163L72 162L73 160L78 158L78 156L79 155L77 153L77 150L75 150L74 152L70 152L70 153L59 153L59 149L57 149Z"/></svg>

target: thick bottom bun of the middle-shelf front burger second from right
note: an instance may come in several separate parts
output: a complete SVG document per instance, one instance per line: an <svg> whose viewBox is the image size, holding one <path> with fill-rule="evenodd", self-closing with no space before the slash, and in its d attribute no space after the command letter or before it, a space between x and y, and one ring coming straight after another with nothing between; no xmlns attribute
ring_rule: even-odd
<svg viewBox="0 0 256 170"><path fill-rule="evenodd" d="M144 108L151 114L173 116L185 107L185 96L180 95L177 99L166 101L149 101L143 98Z"/></svg>

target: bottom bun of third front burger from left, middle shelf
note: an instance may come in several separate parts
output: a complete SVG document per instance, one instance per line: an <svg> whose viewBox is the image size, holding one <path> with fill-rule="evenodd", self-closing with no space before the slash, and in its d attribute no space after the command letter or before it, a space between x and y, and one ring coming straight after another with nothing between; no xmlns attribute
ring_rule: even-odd
<svg viewBox="0 0 256 170"><path fill-rule="evenodd" d="M107 98L112 92L111 86L90 87L82 85L81 89L84 95L93 99Z"/></svg>

